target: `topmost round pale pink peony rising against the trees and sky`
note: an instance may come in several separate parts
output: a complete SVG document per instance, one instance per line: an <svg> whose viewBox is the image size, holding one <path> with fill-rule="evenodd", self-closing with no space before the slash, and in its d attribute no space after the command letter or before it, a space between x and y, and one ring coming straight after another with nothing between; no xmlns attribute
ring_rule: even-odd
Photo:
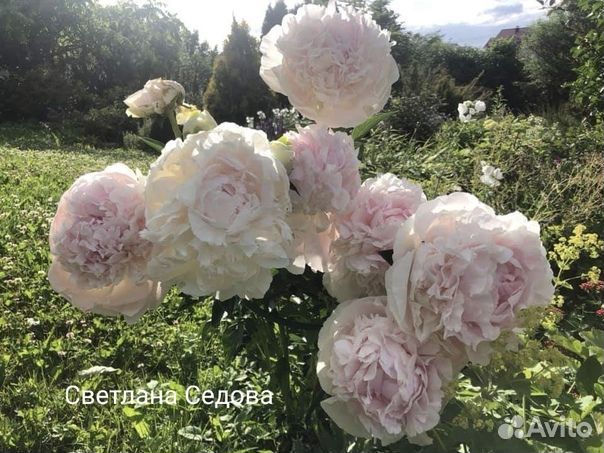
<svg viewBox="0 0 604 453"><path fill-rule="evenodd" d="M304 5L260 44L260 76L307 118L353 127L382 110L398 80L390 33L350 7Z"/></svg>

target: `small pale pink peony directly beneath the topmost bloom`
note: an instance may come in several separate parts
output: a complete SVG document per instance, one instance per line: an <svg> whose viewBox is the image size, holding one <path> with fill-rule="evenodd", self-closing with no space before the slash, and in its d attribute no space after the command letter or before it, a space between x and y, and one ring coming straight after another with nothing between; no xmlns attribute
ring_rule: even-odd
<svg viewBox="0 0 604 453"><path fill-rule="evenodd" d="M316 124L287 134L293 159L289 180L295 211L338 212L348 207L361 185L352 138Z"/></svg>

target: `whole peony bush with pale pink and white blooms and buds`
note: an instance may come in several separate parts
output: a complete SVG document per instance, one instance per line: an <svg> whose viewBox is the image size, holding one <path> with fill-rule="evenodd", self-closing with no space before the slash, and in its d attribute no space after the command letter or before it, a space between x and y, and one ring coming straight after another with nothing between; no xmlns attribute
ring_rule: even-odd
<svg viewBox="0 0 604 453"><path fill-rule="evenodd" d="M173 287L212 303L213 324L249 309L270 325L266 350L279 334L267 362L291 423L293 329L316 338L312 400L341 430L433 442L460 371L515 347L524 312L551 302L553 274L538 223L519 212L464 192L427 200L391 173L361 182L354 134L334 129L365 129L384 107L399 77L392 45L335 1L285 16L262 40L260 75L313 123L273 142L216 124L177 82L149 81L127 113L166 115L175 140L146 177L117 164L65 193L50 234L53 288L129 322ZM485 111L471 104L462 121ZM491 187L503 178L483 173ZM307 413L320 410L313 401Z"/></svg>

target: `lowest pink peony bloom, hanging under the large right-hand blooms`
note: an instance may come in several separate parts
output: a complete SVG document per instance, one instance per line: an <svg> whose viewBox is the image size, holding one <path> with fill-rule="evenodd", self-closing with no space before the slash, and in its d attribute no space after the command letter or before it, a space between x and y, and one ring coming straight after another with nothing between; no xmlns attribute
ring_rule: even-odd
<svg viewBox="0 0 604 453"><path fill-rule="evenodd" d="M318 343L317 376L330 395L321 406L344 431L387 445L436 426L451 361L437 343L403 332L385 297L338 305Z"/></svg>

